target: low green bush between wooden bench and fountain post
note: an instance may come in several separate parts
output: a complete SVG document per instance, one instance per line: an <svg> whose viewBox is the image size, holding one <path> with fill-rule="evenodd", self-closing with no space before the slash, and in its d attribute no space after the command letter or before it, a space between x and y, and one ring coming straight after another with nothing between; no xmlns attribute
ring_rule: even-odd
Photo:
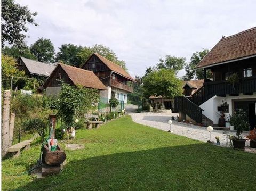
<svg viewBox="0 0 256 191"><path fill-rule="evenodd" d="M48 121L43 120L41 118L32 118L23 122L23 126L25 127L25 130L29 130L29 131L35 130L36 132L38 132L39 136L41 137L41 140L44 140L45 138L45 132L48 125L49 125Z"/></svg>

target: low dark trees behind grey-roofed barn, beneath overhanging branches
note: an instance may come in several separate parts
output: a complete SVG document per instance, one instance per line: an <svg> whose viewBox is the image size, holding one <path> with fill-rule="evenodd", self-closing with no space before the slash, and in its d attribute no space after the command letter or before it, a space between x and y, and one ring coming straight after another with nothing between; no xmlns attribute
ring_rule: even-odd
<svg viewBox="0 0 256 191"><path fill-rule="evenodd" d="M17 46L7 47L5 46L2 48L2 54L12 56L15 59L18 57L26 57L27 59L37 60L36 56L30 52L30 49L25 45L21 48Z"/></svg>

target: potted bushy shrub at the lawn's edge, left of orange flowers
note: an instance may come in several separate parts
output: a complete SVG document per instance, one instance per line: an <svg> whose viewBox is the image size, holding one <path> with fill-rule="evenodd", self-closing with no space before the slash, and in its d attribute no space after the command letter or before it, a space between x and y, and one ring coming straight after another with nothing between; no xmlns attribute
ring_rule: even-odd
<svg viewBox="0 0 256 191"><path fill-rule="evenodd" d="M231 115L230 124L236 129L236 136L231 137L234 148L244 150L246 139L241 134L250 127L246 113L242 109L237 110Z"/></svg>

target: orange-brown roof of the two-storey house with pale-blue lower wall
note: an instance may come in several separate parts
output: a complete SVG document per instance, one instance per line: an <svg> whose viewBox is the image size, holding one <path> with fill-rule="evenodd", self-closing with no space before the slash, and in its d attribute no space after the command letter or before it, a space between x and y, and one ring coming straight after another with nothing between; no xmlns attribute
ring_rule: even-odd
<svg viewBox="0 0 256 191"><path fill-rule="evenodd" d="M104 64L106 64L107 65L107 67L111 70L111 71L113 71L113 72L115 72L115 73L117 73L117 74L119 74L119 75L121 75L121 76L123 76L123 77L125 77L125 78L128 78L128 79L130 79L130 80L132 80L132 81L135 81L134 79L133 79L133 77L131 77L130 75L129 75L129 73L127 73L122 67L120 67L119 65L117 65L117 64L115 64L114 62L111 62L110 60L108 60L108 59L106 59L105 57L103 57L103 56L101 56L101 55L99 55L99 54L97 54L97 53L93 53L90 57L92 57L93 55L95 55L95 56L97 56ZM90 58L89 58L90 59ZM89 60L88 59L88 60ZM86 61L87 62L87 61ZM85 62L85 63L86 63ZM82 66L83 67L83 66ZM82 68L81 67L81 68Z"/></svg>

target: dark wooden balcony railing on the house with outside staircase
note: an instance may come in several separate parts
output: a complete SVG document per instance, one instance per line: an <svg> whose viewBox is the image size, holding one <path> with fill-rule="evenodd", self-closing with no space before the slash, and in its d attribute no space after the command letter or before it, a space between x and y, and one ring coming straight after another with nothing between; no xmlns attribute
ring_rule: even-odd
<svg viewBox="0 0 256 191"><path fill-rule="evenodd" d="M204 83L204 97L221 96L226 94L252 94L256 92L256 77L242 78L237 84L231 85L226 80L224 81L211 81Z"/></svg>

